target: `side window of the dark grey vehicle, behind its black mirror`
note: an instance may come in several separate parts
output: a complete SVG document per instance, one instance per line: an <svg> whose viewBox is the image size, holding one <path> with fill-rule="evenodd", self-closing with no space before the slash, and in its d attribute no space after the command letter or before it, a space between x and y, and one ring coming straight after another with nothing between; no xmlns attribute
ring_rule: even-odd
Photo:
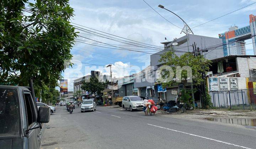
<svg viewBox="0 0 256 149"><path fill-rule="evenodd" d="M34 116L34 108L33 108L33 100L31 98L31 94L24 93L26 110L27 110L27 123L28 127L31 127L34 122L36 122L36 118Z"/></svg>

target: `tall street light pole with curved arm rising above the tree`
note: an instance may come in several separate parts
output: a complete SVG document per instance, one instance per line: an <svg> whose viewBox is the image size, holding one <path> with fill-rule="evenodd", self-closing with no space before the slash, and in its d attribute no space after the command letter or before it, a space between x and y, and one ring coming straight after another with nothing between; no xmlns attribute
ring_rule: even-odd
<svg viewBox="0 0 256 149"><path fill-rule="evenodd" d="M172 12L172 11L166 9L163 5L158 5L158 7L160 7L160 8L162 8L162 9L165 9L165 10L167 10L167 11L173 13L175 16L177 16L178 18L180 18L180 19L183 21L184 27L182 28L182 30L181 30L180 33L183 32L183 33L185 33L185 34L187 35L187 47L189 47L189 46L188 46L189 33L192 33L192 34L194 34L194 33L193 33L193 31L191 30L191 28L188 26L188 24L187 24L180 16L178 16L178 15L176 15L174 12ZM189 51L189 48L188 48L188 52L190 52L190 51ZM191 79L192 79L192 78L191 78ZM186 85L185 85L185 88L186 88ZM192 80L192 83L191 83L191 89L192 89L192 100L193 100L193 104L194 104L193 80Z"/></svg>

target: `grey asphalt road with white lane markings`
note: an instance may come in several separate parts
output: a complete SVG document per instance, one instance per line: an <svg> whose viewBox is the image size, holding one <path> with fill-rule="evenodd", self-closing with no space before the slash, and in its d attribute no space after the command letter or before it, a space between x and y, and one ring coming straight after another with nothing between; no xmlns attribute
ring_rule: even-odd
<svg viewBox="0 0 256 149"><path fill-rule="evenodd" d="M256 148L256 130L206 120L145 116L143 111L97 106L72 114L58 106L44 133L42 149Z"/></svg>

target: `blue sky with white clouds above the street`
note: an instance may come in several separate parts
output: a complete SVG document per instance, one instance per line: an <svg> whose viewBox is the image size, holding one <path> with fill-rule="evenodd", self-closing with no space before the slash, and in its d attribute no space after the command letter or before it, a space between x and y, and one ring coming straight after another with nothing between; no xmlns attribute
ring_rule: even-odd
<svg viewBox="0 0 256 149"><path fill-rule="evenodd" d="M192 28L256 2L256 0L145 1L163 17L181 28L183 27L182 21L172 13L159 8L159 4L175 12ZM174 38L185 35L184 33L180 34L180 28L164 20L143 0L70 0L70 6L73 7L75 14L71 22L138 42L162 47L163 45L160 42L165 37L172 41ZM228 31L231 26L236 25L239 28L248 26L250 14L256 15L256 4L195 27L192 30L197 35L218 38L219 33ZM79 39L88 40L86 38L89 38L114 44L114 42L107 39L79 32L79 35L85 37L79 37ZM246 42L252 43L252 40L246 40ZM253 55L252 44L246 45L246 52L247 55ZM105 67L108 64L112 64L113 77L116 78L139 72L139 70L150 65L150 54L102 48L79 42L75 43L71 54L74 56L71 61L74 65L62 73L63 78L68 79L69 91L73 91L74 79L90 74L91 70L101 71L102 74L109 75L110 69Z"/></svg>

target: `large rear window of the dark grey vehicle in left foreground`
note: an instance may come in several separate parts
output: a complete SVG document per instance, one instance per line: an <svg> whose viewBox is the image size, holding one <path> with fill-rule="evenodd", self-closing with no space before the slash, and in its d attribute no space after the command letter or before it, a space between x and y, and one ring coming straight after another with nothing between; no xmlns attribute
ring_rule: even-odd
<svg viewBox="0 0 256 149"><path fill-rule="evenodd" d="M0 137L20 134L19 111L16 90L0 88Z"/></svg>

